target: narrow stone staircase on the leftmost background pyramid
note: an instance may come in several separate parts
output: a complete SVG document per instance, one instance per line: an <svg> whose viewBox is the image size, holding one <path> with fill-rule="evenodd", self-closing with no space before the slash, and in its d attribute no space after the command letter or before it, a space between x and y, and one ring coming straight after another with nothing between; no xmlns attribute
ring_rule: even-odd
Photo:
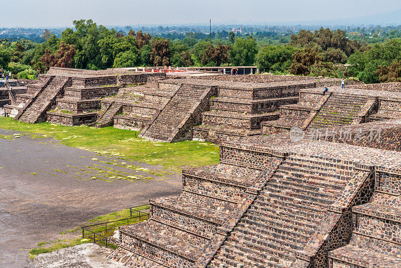
<svg viewBox="0 0 401 268"><path fill-rule="evenodd" d="M70 78L51 76L44 86L31 96L31 101L15 116L14 119L27 123L46 121L46 110L54 103L60 91L70 81Z"/></svg>

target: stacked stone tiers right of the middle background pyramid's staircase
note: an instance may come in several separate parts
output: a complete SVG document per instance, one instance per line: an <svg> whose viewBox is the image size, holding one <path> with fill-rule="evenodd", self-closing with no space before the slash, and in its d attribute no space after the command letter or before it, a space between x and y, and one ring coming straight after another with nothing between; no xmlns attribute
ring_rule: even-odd
<svg viewBox="0 0 401 268"><path fill-rule="evenodd" d="M192 131L193 138L216 143L260 135L262 122L276 120L281 105L296 103L299 90L316 87L314 80L272 83L209 81L212 82L218 87L218 97L211 99L211 110L202 113L202 125Z"/></svg>

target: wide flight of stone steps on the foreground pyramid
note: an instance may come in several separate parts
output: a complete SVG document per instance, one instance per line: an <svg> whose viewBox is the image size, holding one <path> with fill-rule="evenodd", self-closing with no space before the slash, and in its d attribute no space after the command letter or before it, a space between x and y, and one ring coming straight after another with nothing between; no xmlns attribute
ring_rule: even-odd
<svg viewBox="0 0 401 268"><path fill-rule="evenodd" d="M352 175L336 161L287 157L208 268L308 267L297 253Z"/></svg>

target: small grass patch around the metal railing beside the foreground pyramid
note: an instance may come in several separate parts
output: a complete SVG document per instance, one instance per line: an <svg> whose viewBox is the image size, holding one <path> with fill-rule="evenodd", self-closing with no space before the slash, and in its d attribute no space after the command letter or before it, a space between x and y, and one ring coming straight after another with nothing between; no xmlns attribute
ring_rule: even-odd
<svg viewBox="0 0 401 268"><path fill-rule="evenodd" d="M149 205L146 206L141 206L135 208L136 210L140 210L143 212L149 212ZM136 214L135 214L136 213ZM138 212L132 211L132 216L138 215ZM109 221L115 221L115 220L120 220L120 219L126 219L131 217L130 210L129 209L124 209L121 211L113 212L107 215L99 216L97 218L88 220L86 223L82 224L81 226L86 226L86 225L92 225L92 224L97 224L97 223L103 223L103 222L109 222ZM134 218L129 220L129 224L134 224L136 222L141 222L146 220L147 217L140 217L140 218ZM107 224L107 229L104 227L104 225L99 225L99 226L94 226L89 228L90 230L99 233L103 236L110 237L113 235L114 230L117 230L119 226L127 225L126 220L122 221L116 221L114 223L109 223ZM69 234L69 236L73 236L73 238L68 238L68 239L57 239L54 241L45 241L45 242L40 242L29 251L30 253L30 258L35 258L35 255L41 254L41 253L48 253L52 252L57 249L61 248L66 248L74 245L79 245L83 243L88 243L92 242L93 239L89 239L88 236L93 237L93 233L85 231L85 237L82 237L82 229L79 227L75 227L73 229L63 231L60 233L61 235L66 235ZM97 240L97 243L105 244L103 241L101 241L102 237L96 236L95 237ZM110 245L110 244L109 244ZM114 245L110 245L111 247L115 248Z"/></svg>

